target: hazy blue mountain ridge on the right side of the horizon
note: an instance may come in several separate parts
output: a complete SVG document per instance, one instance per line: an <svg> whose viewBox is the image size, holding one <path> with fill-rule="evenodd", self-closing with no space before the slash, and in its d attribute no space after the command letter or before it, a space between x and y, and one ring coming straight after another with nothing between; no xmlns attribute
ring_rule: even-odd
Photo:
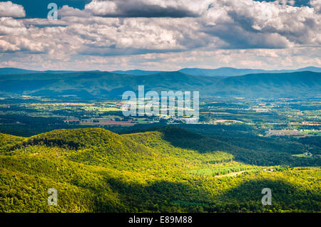
<svg viewBox="0 0 321 227"><path fill-rule="evenodd" d="M250 74L225 78L212 87L213 95L245 97L320 97L321 73Z"/></svg>

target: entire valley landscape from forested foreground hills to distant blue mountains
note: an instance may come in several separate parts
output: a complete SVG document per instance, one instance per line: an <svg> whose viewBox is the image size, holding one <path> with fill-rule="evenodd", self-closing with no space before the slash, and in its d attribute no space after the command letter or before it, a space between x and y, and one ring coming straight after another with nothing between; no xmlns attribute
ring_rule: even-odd
<svg viewBox="0 0 321 227"><path fill-rule="evenodd" d="M56 90L50 92L39 90L40 74L4 75L0 211L320 212L321 100L314 78L320 75L279 75L152 75L148 90L205 91L196 124L188 117L123 115L118 95L151 75L141 82L138 75L41 73ZM24 84L22 78L35 86L10 87ZM91 89L87 95L65 92L76 80ZM214 92L213 84L228 93ZM110 87L106 95L97 92L102 85ZM244 89L260 92L243 95ZM57 206L47 204L51 188ZM261 203L265 188L272 190L269 206Z"/></svg>

